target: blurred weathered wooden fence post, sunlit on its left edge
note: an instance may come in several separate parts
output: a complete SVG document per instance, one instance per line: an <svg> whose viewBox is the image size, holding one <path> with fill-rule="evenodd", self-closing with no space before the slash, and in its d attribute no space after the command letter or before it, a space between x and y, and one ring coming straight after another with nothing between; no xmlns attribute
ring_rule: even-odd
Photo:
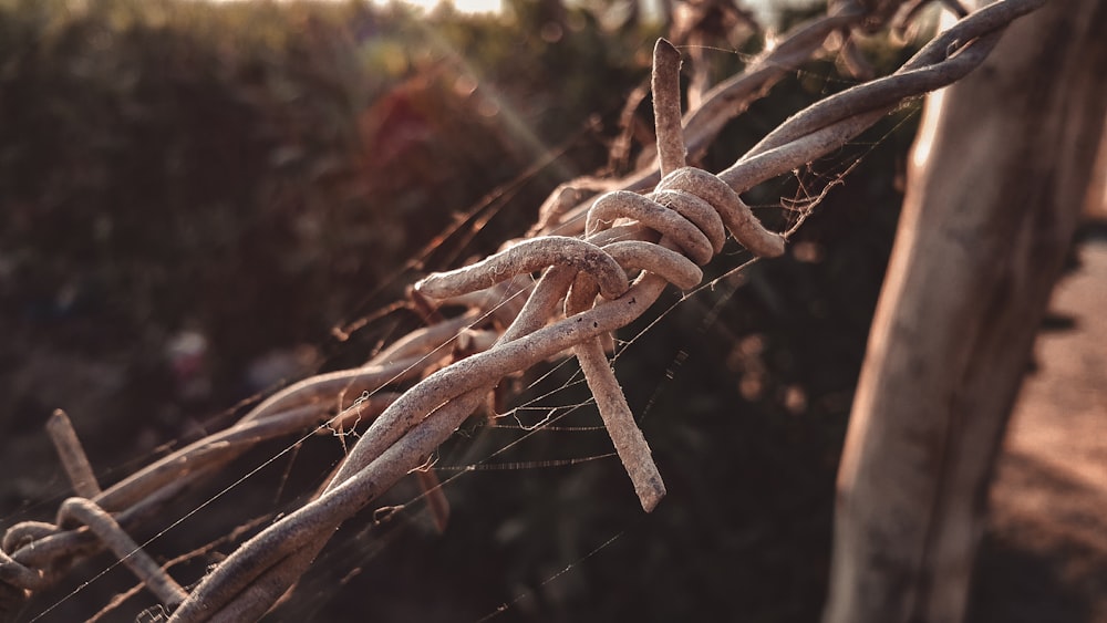
<svg viewBox="0 0 1107 623"><path fill-rule="evenodd" d="M1107 0L927 104L838 477L826 623L964 616L994 458L1107 115Z"/></svg>

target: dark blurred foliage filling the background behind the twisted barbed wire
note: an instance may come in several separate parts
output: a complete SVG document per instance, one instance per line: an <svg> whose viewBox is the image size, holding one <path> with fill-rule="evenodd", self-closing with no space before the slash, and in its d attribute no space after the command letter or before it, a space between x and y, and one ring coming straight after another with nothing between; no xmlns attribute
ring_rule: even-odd
<svg viewBox="0 0 1107 623"><path fill-rule="evenodd" d="M256 391L246 371L275 350L317 346L312 368L355 364L410 319L370 323L348 342L332 328L396 300L418 270L519 235L556 184L599 169L628 93L648 75L658 27L612 25L587 8L596 3L552 13L549 2L507 4L499 19L359 2L0 0L6 436L52 461L31 439L64 406L94 464L114 467L116 454L194 435L189 417ZM753 38L749 50L716 51L715 69L739 71L757 46ZM909 52L871 48L882 71ZM702 164L726 166L789 114L850 84L832 60L809 63L731 124ZM640 108L648 121L648 100ZM815 620L834 474L913 115L906 107L748 194L783 228L796 218L792 201L835 186L786 258L723 277L640 338L644 325L621 335L630 343L617 372L670 488L658 511L642 516L610 459L474 473L446 488L454 517L445 536L427 537L417 513L348 529L282 619L349 620L356 608L359 619L476 620L526 595L500 620ZM582 131L592 118L601 129ZM479 224L472 235L462 227L421 255L469 222L464 215ZM713 277L746 259L728 248ZM180 368L166 354L186 330L208 340L203 370L192 372L213 383L192 404L175 394ZM52 359L32 365L42 353ZM65 363L72 357L79 363ZM66 367L82 361L114 372ZM584 398L571 386L541 404ZM594 413L582 412L558 424L594 426ZM125 448L118 427L132 433ZM483 459L511 439L479 424L464 433L442 465ZM287 477L335 446L304 444L272 487L317 482L320 474ZM602 432L554 432L496 460L608 447ZM265 500L294 498L256 482L173 538L190 536L195 547L245 519L229 513L247 498L262 511ZM405 485L391 497L414 495ZM44 497L3 496L4 508ZM84 608L70 614L99 605Z"/></svg>

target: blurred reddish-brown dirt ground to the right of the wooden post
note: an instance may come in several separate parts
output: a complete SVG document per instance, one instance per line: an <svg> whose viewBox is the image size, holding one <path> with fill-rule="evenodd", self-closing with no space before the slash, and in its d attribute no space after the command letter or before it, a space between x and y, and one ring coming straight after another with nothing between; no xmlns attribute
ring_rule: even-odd
<svg viewBox="0 0 1107 623"><path fill-rule="evenodd" d="M1012 416L973 622L1107 622L1107 236L1079 262Z"/></svg>

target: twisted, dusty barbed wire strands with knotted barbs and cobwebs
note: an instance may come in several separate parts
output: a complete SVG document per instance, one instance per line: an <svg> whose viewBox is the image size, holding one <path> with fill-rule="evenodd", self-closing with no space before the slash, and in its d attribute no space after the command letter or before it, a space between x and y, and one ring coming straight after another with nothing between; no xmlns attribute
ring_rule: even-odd
<svg viewBox="0 0 1107 623"><path fill-rule="evenodd" d="M727 121L817 54L832 33L848 41L850 31L901 29L921 1L836 6L830 15L794 30L707 92L702 105L683 117L680 53L660 40L652 76L654 165L613 181L562 185L526 239L414 284L413 303L430 310L432 324L363 366L312 376L276 393L229 428L112 487L101 489L68 417L55 413L48 429L76 496L62 502L53 522L24 521L4 533L0 619L13 620L33 592L62 578L75 560L104 549L173 611L170 621L259 619L345 519L404 476L418 474L427 495L441 498L441 485L425 467L437 447L501 380L570 353L643 509L652 510L665 495L664 481L612 373L611 332L637 320L669 284L684 291L699 287L700 266L722 250L728 235L755 257L780 256L794 228L766 230L741 193L841 147L903 102L960 80L980 65L1014 19L1045 0L1001 0L971 14L952 0L943 3L965 17L899 70L795 114L715 175L686 166L686 155L702 152ZM890 6L899 8L898 17ZM597 191L604 193L582 200ZM535 282L530 274L538 271L544 272ZM454 318L439 311L456 307L466 311ZM414 384L402 390L408 382ZM359 397L335 408L344 395ZM240 544L190 592L130 537L184 489L258 443L304 430L348 430L359 420L372 424L314 498Z"/></svg>

